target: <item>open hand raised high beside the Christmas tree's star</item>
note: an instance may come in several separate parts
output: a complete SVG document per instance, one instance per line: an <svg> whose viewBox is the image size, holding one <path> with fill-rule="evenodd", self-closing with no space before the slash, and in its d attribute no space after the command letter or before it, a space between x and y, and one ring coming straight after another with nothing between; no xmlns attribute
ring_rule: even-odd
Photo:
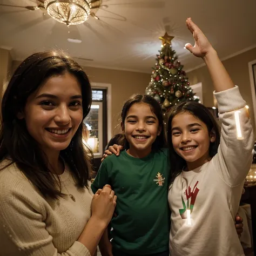
<svg viewBox="0 0 256 256"><path fill-rule="evenodd" d="M204 33L198 28L196 24L192 22L191 18L187 18L186 25L188 30L192 33L194 37L194 46L187 43L185 48L193 53L194 56L204 58L207 53L214 51L211 43L208 41Z"/></svg>

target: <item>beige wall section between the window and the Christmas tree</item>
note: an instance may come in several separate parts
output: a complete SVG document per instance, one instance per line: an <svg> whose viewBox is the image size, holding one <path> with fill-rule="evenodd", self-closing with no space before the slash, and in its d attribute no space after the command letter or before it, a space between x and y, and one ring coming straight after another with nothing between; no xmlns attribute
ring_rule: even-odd
<svg viewBox="0 0 256 256"><path fill-rule="evenodd" d="M19 63L17 61L13 62L12 73ZM151 74L91 67L84 67L84 70L89 76L90 82L111 84L112 132L118 133L119 127L116 130L114 130L114 127L119 124L118 119L125 100L133 93L145 93Z"/></svg>

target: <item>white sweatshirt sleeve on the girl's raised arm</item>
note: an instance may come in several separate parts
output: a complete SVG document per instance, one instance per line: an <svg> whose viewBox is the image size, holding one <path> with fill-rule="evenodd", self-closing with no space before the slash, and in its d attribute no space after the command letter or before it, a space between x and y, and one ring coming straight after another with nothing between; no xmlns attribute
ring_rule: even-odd
<svg viewBox="0 0 256 256"><path fill-rule="evenodd" d="M218 102L221 137L218 153L212 163L220 177L230 186L244 182L252 163L254 134L252 124L238 86L232 89L214 92ZM237 137L235 111L240 111L239 123L242 139Z"/></svg>

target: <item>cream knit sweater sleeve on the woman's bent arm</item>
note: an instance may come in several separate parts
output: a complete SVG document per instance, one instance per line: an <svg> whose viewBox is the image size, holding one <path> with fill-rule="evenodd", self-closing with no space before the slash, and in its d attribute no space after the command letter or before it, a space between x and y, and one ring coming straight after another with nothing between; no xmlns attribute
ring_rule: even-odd
<svg viewBox="0 0 256 256"><path fill-rule="evenodd" d="M0 171L1 255L91 256L87 248L78 241L66 252L58 253L45 228L46 211L39 194L25 179L10 177L2 172Z"/></svg>

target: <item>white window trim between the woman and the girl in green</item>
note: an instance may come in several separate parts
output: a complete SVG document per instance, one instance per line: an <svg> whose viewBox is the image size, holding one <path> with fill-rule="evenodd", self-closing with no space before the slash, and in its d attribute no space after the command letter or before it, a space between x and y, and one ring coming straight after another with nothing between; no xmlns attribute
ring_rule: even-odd
<svg viewBox="0 0 256 256"><path fill-rule="evenodd" d="M91 83L92 89L107 89L107 142L112 138L112 89L111 84Z"/></svg>

